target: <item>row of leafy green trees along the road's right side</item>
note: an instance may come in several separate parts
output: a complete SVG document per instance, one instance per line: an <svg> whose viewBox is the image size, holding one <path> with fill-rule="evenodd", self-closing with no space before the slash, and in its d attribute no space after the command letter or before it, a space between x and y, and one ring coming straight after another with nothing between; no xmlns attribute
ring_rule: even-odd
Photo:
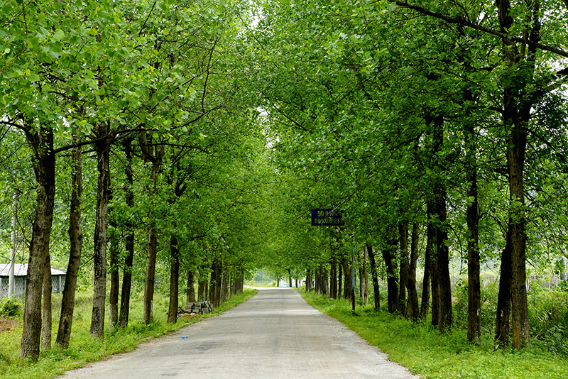
<svg viewBox="0 0 568 379"><path fill-rule="evenodd" d="M449 331L449 260L463 252L479 341L480 264L500 258L496 345L512 331L513 347L528 346L526 263L567 235L567 15L565 0L258 1L253 82L293 183L282 196L301 210L283 224L347 210L346 229L305 232L326 253L300 228L302 249L275 254L274 270L295 262L329 278L367 246L371 263L382 253L388 309L425 317L432 297L432 324Z"/></svg>

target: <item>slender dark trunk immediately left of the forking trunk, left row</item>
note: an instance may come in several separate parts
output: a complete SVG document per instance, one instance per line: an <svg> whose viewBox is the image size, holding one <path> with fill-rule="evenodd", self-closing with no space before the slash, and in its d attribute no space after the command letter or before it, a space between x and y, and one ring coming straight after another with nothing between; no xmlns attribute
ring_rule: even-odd
<svg viewBox="0 0 568 379"><path fill-rule="evenodd" d="M126 155L126 167L124 169L126 174L126 189L124 190L124 197L126 207L129 209L129 216L126 219L125 229L126 236L124 238L124 248L126 250L126 257L124 258L124 270L122 271L122 289L120 294L120 315L119 325L121 327L129 324L130 313L130 292L132 287L132 265L134 261L134 223L132 220L132 210L134 207L134 177L132 173L132 142L133 138L124 140L123 147Z"/></svg>

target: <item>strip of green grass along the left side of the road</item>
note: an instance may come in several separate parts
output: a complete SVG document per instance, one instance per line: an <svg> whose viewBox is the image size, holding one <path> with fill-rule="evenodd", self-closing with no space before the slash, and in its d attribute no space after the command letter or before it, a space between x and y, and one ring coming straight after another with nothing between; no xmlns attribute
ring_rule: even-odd
<svg viewBox="0 0 568 379"><path fill-rule="evenodd" d="M171 331L199 322L207 317L221 314L227 309L231 309L241 304L241 302L249 300L256 292L258 291L245 288L242 295L232 297L231 300L215 308L213 313L206 314L202 317L195 317L194 319L178 319L178 322L175 322L175 324L168 324L166 322L168 297L159 294L155 295L153 303L154 318L153 322L149 325L141 322L141 297L133 298L131 299L129 326L113 330L109 330L107 326L104 332L104 339L102 340L94 339L89 335L92 293L80 292L77 293L75 301L70 348L67 350L55 347L55 336L57 335L60 309L58 305L61 302L61 295L54 295L53 348L50 350L42 350L37 362L31 360L21 361L18 359L22 333L21 323L9 331L0 333L0 378L55 378L67 370L79 368L89 362L100 361L111 354L131 351L142 341L168 334ZM185 304L185 297L183 299L180 298L180 304Z"/></svg>

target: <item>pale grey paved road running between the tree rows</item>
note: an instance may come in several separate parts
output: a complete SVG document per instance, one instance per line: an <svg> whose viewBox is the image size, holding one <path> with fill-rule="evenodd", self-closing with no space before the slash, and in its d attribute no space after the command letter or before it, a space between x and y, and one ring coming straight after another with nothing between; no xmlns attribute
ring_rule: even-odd
<svg viewBox="0 0 568 379"><path fill-rule="evenodd" d="M186 338L187 337L187 338ZM251 300L60 378L417 378L293 289Z"/></svg>

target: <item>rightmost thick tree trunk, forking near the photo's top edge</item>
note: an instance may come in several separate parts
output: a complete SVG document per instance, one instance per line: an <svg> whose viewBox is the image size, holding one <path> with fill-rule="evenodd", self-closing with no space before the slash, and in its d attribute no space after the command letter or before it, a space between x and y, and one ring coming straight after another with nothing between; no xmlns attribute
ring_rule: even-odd
<svg viewBox="0 0 568 379"><path fill-rule="evenodd" d="M534 43L540 42L540 1L531 1L527 9L525 23L525 39L533 44L517 44L508 39L513 27L513 15L509 0L497 0L499 27L504 33L503 61L508 67L506 80L503 82L503 126L508 132L506 143L507 167L509 174L509 207L510 207L510 252L511 252L511 302L513 312L513 348L523 348L530 344L528 324L528 300L526 287L526 219L525 191L523 171L525 166L525 150L527 145L527 128L530 111L535 102L532 91L526 91L532 82L535 70L536 48ZM528 19L527 19L528 18ZM526 53L526 56L525 56Z"/></svg>

